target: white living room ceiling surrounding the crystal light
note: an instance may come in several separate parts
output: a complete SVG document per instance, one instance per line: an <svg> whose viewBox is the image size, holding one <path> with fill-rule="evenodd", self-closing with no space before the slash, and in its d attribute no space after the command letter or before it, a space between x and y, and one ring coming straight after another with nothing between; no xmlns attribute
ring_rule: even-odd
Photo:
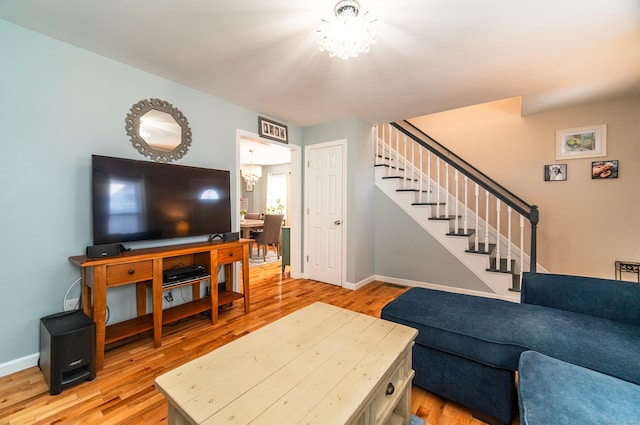
<svg viewBox="0 0 640 425"><path fill-rule="evenodd" d="M299 126L640 93L639 0L361 0L379 41L347 61L316 44L334 5L0 0L0 17Z"/></svg>

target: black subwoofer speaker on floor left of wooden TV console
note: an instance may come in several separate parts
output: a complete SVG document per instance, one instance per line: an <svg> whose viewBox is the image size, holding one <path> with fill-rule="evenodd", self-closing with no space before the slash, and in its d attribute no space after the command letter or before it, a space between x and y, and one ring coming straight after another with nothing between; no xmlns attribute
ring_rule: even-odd
<svg viewBox="0 0 640 425"><path fill-rule="evenodd" d="M40 370L51 395L96 377L96 325L82 311L40 319Z"/></svg>

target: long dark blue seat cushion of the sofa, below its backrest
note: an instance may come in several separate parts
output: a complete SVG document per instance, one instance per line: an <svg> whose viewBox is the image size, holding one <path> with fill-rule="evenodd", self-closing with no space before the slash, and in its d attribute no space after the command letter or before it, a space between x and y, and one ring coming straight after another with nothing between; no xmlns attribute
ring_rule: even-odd
<svg viewBox="0 0 640 425"><path fill-rule="evenodd" d="M423 344L516 370L526 350L640 384L640 327L531 304L412 288L381 317L418 330Z"/></svg>

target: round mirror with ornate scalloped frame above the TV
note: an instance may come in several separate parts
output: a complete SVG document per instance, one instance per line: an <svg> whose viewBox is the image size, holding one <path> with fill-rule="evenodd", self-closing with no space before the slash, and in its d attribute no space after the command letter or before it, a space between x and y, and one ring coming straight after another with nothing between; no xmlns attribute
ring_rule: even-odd
<svg viewBox="0 0 640 425"><path fill-rule="evenodd" d="M133 147L153 161L180 159L191 146L187 118L164 100L141 100L131 107L125 122Z"/></svg>

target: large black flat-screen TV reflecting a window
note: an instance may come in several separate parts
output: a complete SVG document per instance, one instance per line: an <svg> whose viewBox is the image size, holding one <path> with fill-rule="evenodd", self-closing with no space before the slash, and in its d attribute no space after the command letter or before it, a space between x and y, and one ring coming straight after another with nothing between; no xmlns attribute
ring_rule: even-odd
<svg viewBox="0 0 640 425"><path fill-rule="evenodd" d="M93 243L231 231L225 170L92 156Z"/></svg>

